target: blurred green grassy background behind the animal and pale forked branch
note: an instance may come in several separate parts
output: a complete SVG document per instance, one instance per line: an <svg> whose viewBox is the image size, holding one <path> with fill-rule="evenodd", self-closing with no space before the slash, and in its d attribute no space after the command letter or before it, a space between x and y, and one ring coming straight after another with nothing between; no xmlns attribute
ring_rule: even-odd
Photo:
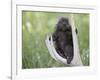
<svg viewBox="0 0 100 80"><path fill-rule="evenodd" d="M58 19L72 13L22 12L22 68L66 67L55 61L45 44L46 36L54 31ZM89 65L89 14L73 13L81 58Z"/></svg>

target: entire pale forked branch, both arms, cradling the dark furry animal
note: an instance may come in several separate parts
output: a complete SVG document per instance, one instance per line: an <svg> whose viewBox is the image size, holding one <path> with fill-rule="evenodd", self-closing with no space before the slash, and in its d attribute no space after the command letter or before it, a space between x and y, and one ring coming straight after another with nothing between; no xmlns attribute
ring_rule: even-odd
<svg viewBox="0 0 100 80"><path fill-rule="evenodd" d="M73 60L71 61L71 64L67 64L67 59L61 57L55 50L54 44L53 44L53 40L52 40L52 36L47 36L46 38L46 45L47 48L50 52L50 55L58 62L64 63L66 65L70 65L70 66L82 66L82 61L81 61L81 57L80 57L80 51L79 51L79 45L78 45L78 39L77 39L77 34L75 32L75 24L73 21L73 14L71 14L70 17L70 24L72 26L72 35L73 35L73 44L74 44L74 57Z"/></svg>

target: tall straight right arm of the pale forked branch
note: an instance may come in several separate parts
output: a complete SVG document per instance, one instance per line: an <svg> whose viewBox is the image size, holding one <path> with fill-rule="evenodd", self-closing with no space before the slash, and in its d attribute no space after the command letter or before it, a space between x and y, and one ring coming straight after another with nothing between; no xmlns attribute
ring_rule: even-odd
<svg viewBox="0 0 100 80"><path fill-rule="evenodd" d="M74 58L72 60L72 64L76 66L82 66L82 60L80 57L80 50L79 50L79 44L78 44L78 35L76 34L76 27L74 23L74 18L73 14L71 14L69 20L70 24L72 26L72 36L73 36L73 44L74 44Z"/></svg>

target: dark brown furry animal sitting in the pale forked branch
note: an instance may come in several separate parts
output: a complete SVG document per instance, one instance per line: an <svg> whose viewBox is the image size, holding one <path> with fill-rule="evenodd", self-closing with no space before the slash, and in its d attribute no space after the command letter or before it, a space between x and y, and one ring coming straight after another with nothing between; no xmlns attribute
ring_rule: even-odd
<svg viewBox="0 0 100 80"><path fill-rule="evenodd" d="M59 19L53 33L53 40L58 54L67 59L67 64L70 64L74 56L74 48L72 28L68 18L62 17Z"/></svg>

